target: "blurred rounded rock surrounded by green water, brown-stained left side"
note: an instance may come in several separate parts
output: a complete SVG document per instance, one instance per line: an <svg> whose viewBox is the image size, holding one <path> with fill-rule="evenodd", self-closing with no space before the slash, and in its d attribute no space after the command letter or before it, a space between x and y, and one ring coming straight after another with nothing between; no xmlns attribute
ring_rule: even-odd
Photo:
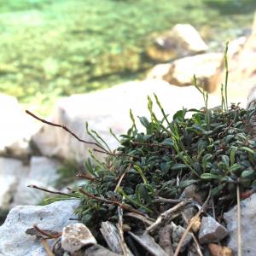
<svg viewBox="0 0 256 256"><path fill-rule="evenodd" d="M189 24L177 24L172 30L155 38L154 46L148 48L148 56L154 61L170 61L186 55L195 55L207 51L195 27Z"/></svg>

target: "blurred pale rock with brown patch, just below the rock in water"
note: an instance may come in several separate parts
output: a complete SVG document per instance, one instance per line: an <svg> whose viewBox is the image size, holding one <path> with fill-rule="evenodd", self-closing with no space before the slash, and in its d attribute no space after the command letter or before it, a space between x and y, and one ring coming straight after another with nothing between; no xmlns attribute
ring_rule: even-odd
<svg viewBox="0 0 256 256"><path fill-rule="evenodd" d="M183 86L193 84L195 75L198 84L205 84L206 90L210 91L208 79L216 73L222 59L223 54L220 53L189 56L170 64L160 64L159 67L154 67L148 76Z"/></svg>

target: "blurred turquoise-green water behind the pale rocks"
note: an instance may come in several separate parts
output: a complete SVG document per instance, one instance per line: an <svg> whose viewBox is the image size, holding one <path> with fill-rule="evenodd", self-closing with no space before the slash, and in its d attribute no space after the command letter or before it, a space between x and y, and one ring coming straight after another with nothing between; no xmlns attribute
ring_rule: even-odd
<svg viewBox="0 0 256 256"><path fill-rule="evenodd" d="M250 0L0 0L0 91L44 112L55 97L143 79L151 38L178 22L221 49L255 9Z"/></svg>

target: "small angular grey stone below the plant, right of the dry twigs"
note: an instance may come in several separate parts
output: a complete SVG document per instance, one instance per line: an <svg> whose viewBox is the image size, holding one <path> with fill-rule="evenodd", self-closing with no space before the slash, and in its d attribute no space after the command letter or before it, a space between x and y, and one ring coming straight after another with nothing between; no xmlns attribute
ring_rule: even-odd
<svg viewBox="0 0 256 256"><path fill-rule="evenodd" d="M201 219L201 228L198 237L201 244L221 241L224 237L228 236L228 234L229 231L211 216Z"/></svg>

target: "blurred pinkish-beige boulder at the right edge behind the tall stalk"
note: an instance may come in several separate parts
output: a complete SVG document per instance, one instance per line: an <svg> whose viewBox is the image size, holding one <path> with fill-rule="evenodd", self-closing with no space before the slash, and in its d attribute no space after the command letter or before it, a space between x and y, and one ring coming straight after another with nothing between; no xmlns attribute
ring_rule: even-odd
<svg viewBox="0 0 256 256"><path fill-rule="evenodd" d="M244 40L244 39L243 39ZM247 97L248 91L256 84L256 15L254 16L253 29L246 42L237 50L232 45L229 52L229 95ZM219 91L224 83L224 61L218 72L210 79L212 90Z"/></svg>

